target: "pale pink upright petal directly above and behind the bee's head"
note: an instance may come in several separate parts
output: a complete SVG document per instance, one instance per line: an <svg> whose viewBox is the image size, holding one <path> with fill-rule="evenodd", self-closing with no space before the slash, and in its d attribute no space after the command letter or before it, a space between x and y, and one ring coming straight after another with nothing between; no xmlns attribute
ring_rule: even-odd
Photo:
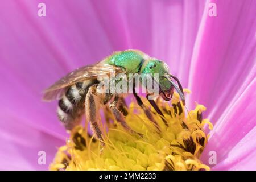
<svg viewBox="0 0 256 182"><path fill-rule="evenodd" d="M154 1L152 3L152 56L170 66L184 88L205 1Z"/></svg>

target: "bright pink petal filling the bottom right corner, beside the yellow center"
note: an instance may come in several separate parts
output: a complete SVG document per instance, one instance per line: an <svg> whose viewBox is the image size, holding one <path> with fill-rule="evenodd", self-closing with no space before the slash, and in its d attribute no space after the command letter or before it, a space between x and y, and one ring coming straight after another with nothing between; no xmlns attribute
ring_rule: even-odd
<svg viewBox="0 0 256 182"><path fill-rule="evenodd" d="M230 103L222 114L213 131L210 132L209 143L201 157L204 163L208 164L209 152L216 151L217 165L214 168L218 169L220 164L220 168L231 169L235 168L232 164L238 164L240 160L249 156L251 151L256 150L254 137L251 137L255 135L253 131L256 126L255 89L256 79L254 78L243 93L237 94L236 100ZM255 152L253 154L255 155ZM249 162L244 159L241 164L245 164L246 161ZM251 168L252 166L245 165L245 167ZM256 169L255 165L254 169Z"/></svg>

